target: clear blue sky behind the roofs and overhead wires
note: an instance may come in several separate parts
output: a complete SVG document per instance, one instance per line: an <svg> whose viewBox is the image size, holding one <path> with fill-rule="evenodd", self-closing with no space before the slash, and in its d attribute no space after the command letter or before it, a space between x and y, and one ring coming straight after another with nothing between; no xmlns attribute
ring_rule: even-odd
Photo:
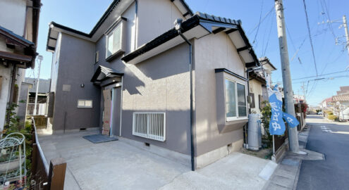
<svg viewBox="0 0 349 190"><path fill-rule="evenodd" d="M54 21L83 32L90 32L112 0L42 0L42 11L39 23L39 54L44 56L42 61L42 78L50 77L51 53L46 51L49 23ZM166 1L166 0L164 0ZM276 16L273 0L187 0L192 11L201 11L221 17L242 20L243 28L254 46L257 56L267 56L278 70L273 73L273 81L282 83L281 63L278 49L276 30ZM342 21L343 15L349 17L349 1L347 0L306 0L309 16L310 32L314 45L314 54L319 75L331 72L344 71L349 65L348 51L343 44L336 45L336 37L341 42L345 39L345 32L338 28L341 23L318 24L331 20ZM310 39L307 32L307 23L302 0L284 0L285 18L288 37L288 52L293 61L290 61L291 76L293 79L316 75ZM259 18L262 22L259 24ZM264 18L264 19L263 19ZM331 26L331 27L330 27ZM299 49L299 50L298 50ZM27 70L27 77L37 77L35 71ZM343 77L338 77L343 76ZM329 79L329 77L335 77ZM326 75L314 80L307 78L293 80L295 94L303 94L302 82L305 84L306 99L311 105L317 105L323 99L336 95L339 87L349 85L349 72ZM308 81L310 80L310 81Z"/></svg>

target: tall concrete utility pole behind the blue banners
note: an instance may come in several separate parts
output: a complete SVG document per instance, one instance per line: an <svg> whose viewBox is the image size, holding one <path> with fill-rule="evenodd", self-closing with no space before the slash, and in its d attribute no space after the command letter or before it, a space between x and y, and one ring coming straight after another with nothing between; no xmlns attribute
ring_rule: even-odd
<svg viewBox="0 0 349 190"><path fill-rule="evenodd" d="M288 60L288 48L286 39L286 25L283 16L283 1L275 0L276 27L278 27L278 44L280 46L281 69L283 80L283 92L285 95L286 113L295 117L295 106L293 103L292 82L290 78L290 62ZM288 141L290 151L300 153L298 144L297 127L288 127Z"/></svg>

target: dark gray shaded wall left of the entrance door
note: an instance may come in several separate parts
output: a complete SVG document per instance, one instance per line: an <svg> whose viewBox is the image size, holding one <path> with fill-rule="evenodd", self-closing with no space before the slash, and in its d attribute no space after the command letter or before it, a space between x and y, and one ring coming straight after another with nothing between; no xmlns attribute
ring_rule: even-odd
<svg viewBox="0 0 349 190"><path fill-rule="evenodd" d="M53 129L63 130L65 122L66 130L99 127L100 90L90 82L94 73L94 43L62 34L57 56ZM63 91L63 84L70 85L70 91ZM93 108L77 108L78 99L92 100Z"/></svg>

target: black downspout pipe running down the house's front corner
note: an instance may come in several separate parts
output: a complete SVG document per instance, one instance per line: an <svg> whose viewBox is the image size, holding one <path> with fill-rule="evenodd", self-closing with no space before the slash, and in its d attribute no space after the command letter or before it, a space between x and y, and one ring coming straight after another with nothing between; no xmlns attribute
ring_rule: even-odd
<svg viewBox="0 0 349 190"><path fill-rule="evenodd" d="M190 160L192 165L192 171L195 171L195 159L194 159L194 139L193 139L193 101L192 101L192 43L189 42L189 40L182 34L181 30L182 27L180 27L182 23L182 19L178 18L175 20L176 30L178 31L178 34L180 37L184 39L184 41L189 45L189 72L190 72Z"/></svg>

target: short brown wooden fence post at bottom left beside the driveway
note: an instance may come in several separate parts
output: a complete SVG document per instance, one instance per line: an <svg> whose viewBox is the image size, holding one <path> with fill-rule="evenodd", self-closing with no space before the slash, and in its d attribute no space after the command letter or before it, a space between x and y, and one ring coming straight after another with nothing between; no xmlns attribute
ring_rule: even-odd
<svg viewBox="0 0 349 190"><path fill-rule="evenodd" d="M49 164L49 189L63 190L64 179L66 178L66 160L64 158L54 158Z"/></svg>

